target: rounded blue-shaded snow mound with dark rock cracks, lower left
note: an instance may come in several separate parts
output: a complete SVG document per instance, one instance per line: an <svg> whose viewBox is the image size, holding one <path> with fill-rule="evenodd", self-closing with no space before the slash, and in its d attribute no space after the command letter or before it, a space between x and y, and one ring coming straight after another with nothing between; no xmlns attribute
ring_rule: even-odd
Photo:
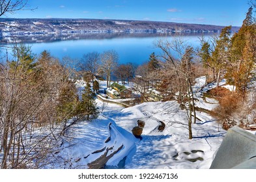
<svg viewBox="0 0 256 182"><path fill-rule="evenodd" d="M112 156L107 165L117 166L126 157L130 162L135 153L135 137L118 127L113 120L99 116L92 122L81 122L68 129L54 168L89 168L100 157ZM52 167L52 166L50 166ZM90 166L93 168L93 166Z"/></svg>

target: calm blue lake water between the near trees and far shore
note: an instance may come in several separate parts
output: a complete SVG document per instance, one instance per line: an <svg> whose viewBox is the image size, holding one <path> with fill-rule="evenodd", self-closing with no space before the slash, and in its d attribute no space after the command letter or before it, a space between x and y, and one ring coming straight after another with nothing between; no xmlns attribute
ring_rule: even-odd
<svg viewBox="0 0 256 182"><path fill-rule="evenodd" d="M182 36L193 47L199 46L201 34L188 34ZM208 38L211 35L206 35ZM102 53L108 50L115 50L119 54L119 63L134 62L142 64L149 60L149 55L153 52L160 54L160 49L154 47L154 42L159 39L172 40L172 35L160 36L159 34L150 36L118 36L107 38L88 38L80 40L62 40L57 42L30 43L33 53L39 55L42 51L50 51L53 57L63 59L71 57L79 61L84 54L97 51ZM5 51L4 51L5 52Z"/></svg>

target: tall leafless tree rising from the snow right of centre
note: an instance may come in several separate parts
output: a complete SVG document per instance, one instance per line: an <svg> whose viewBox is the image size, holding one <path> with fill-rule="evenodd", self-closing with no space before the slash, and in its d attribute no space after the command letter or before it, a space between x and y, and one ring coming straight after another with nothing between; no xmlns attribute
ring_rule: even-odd
<svg viewBox="0 0 256 182"><path fill-rule="evenodd" d="M164 60L164 74L171 76L170 79L174 79L177 84L177 90L174 92L178 92L180 107L186 109L189 138L192 139L192 120L194 123L196 120L192 90L194 79L192 70L193 48L179 37L174 38L171 42L158 40L155 45L162 50L160 57ZM173 52L177 53L176 57Z"/></svg>

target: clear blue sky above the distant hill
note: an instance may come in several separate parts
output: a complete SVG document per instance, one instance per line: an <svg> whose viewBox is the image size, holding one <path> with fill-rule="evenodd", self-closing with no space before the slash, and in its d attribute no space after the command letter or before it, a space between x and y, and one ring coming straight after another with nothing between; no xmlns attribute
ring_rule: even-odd
<svg viewBox="0 0 256 182"><path fill-rule="evenodd" d="M240 26L248 0L29 0L12 18L92 18Z"/></svg>

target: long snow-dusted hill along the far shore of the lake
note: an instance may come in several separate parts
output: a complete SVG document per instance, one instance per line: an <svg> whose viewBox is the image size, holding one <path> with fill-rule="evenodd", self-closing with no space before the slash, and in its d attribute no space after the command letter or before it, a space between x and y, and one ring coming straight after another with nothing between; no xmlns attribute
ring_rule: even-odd
<svg viewBox="0 0 256 182"><path fill-rule="evenodd" d="M223 26L115 19L0 18L2 40L12 37L84 34L87 32L220 32ZM233 27L236 32L240 27Z"/></svg>

